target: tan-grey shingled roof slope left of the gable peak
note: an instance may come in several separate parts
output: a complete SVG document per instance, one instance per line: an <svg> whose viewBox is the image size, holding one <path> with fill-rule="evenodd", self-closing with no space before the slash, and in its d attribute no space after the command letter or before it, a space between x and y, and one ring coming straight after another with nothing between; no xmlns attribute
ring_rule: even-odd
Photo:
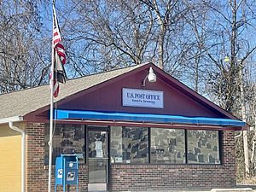
<svg viewBox="0 0 256 192"><path fill-rule="evenodd" d="M61 101L67 96L72 96L82 90L89 89L97 84L118 77L121 74L131 72L145 64L121 68L106 73L97 73L83 78L67 80L66 84L60 84L60 93L56 101ZM39 108L48 106L50 102L49 84L18 90L0 95L0 119L12 117L23 117L27 113L32 113ZM1 121L0 121L1 123Z"/></svg>

